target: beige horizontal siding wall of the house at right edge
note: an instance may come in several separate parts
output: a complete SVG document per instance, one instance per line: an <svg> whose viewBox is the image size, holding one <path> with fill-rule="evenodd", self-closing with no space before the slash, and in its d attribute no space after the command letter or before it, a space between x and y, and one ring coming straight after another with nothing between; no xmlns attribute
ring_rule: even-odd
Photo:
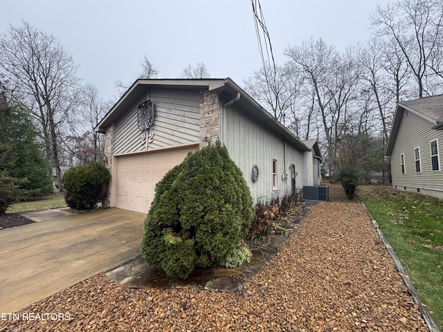
<svg viewBox="0 0 443 332"><path fill-rule="evenodd" d="M433 123L407 111L401 119L395 145L390 160L392 185L424 190L443 191L443 172L441 165L443 131L431 129ZM431 141L438 139L440 171L431 167ZM415 149L419 147L422 172L415 171ZM405 174L401 174L401 154L404 154Z"/></svg>

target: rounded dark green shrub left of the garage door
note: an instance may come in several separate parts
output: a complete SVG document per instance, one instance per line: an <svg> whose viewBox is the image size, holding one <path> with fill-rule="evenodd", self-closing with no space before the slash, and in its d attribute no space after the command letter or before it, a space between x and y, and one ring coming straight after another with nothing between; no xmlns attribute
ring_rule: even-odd
<svg viewBox="0 0 443 332"><path fill-rule="evenodd" d="M99 163L68 169L62 178L66 205L75 210L93 210L105 198L110 179L109 170Z"/></svg>

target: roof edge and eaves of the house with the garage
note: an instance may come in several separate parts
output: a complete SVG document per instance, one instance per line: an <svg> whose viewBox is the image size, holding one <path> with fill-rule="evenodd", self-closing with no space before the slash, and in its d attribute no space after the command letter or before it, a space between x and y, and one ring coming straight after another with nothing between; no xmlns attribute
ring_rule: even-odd
<svg viewBox="0 0 443 332"><path fill-rule="evenodd" d="M141 95L146 92L148 87L171 87L176 89L208 89L217 93L221 100L225 102L234 101L241 104L242 107L251 113L251 116L264 124L265 127L271 129L275 133L279 133L284 138L295 145L301 151L311 151L301 140L299 140L291 131L284 127L280 122L275 120L271 114L266 111L258 102L241 89L233 80L228 78L211 78L211 79L139 79L132 84L131 87L122 95L122 97L114 104L104 118L97 124L94 131L105 133L107 127L134 105Z"/></svg>

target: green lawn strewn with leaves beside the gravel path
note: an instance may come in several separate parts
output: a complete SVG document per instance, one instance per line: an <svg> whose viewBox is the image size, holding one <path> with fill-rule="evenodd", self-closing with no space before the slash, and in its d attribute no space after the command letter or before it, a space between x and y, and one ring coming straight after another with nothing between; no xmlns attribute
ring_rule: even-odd
<svg viewBox="0 0 443 332"><path fill-rule="evenodd" d="M443 201L387 186L359 186L358 194L443 329Z"/></svg>

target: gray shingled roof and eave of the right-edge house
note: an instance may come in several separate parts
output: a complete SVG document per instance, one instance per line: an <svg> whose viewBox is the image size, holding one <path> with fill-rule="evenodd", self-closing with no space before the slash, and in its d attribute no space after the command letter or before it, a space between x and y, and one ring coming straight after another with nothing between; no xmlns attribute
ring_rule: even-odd
<svg viewBox="0 0 443 332"><path fill-rule="evenodd" d="M392 129L388 139L388 145L386 145L385 156L387 157L392 154L392 149L394 148L401 119L403 118L405 111L415 113L417 116L420 116L433 123L434 126L432 129L443 129L443 95L433 95L431 97L401 101L397 104L394 121L392 122Z"/></svg>

